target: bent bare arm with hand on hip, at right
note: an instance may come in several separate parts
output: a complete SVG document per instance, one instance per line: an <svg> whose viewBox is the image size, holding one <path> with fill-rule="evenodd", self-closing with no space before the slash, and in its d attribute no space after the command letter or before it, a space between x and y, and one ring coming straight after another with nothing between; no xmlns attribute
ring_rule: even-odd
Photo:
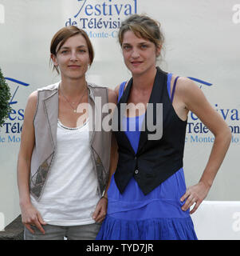
<svg viewBox="0 0 240 256"><path fill-rule="evenodd" d="M179 95L182 95L187 110L191 110L196 114L203 124L214 134L215 138L207 166L203 170L199 183L187 188L186 193L181 198L181 201L187 198L187 201L182 207L183 210L187 210L195 203L195 207L190 212L193 214L198 209L200 203L203 202L203 199L207 197L214 178L226 156L226 151L230 146L231 133L226 122L210 106L207 98L195 82L187 78L181 78L178 86Z"/></svg>

